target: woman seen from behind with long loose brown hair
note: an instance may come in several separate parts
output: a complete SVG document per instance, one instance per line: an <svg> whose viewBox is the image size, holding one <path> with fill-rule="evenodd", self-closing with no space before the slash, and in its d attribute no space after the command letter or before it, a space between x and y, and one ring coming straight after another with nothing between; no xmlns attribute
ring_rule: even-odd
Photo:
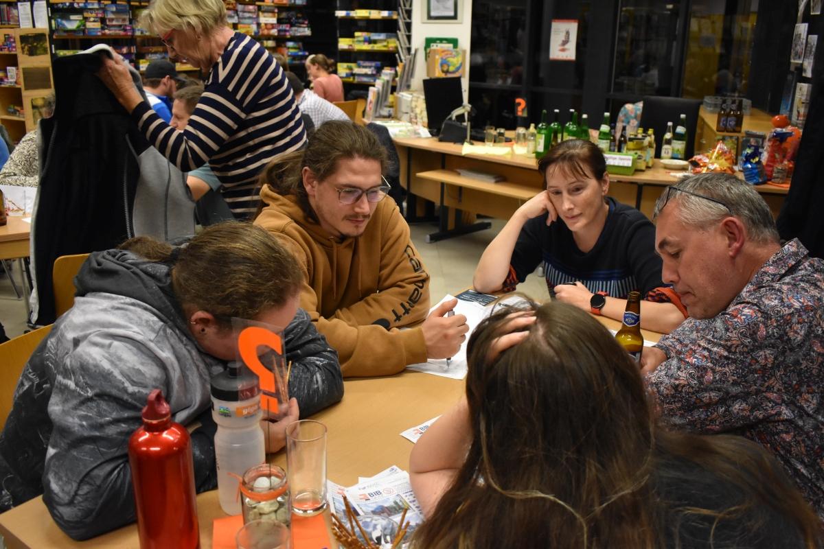
<svg viewBox="0 0 824 549"><path fill-rule="evenodd" d="M638 366L587 313L504 309L468 347L466 398L415 444L414 547L820 547L764 449L658 427Z"/></svg>

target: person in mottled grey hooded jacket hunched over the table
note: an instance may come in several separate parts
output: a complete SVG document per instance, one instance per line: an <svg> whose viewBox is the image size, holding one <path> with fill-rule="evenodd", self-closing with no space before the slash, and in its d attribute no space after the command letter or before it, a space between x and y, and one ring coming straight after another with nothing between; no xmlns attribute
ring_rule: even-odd
<svg viewBox="0 0 824 549"><path fill-rule="evenodd" d="M264 421L269 451L288 422L343 397L337 353L298 309L297 260L260 227L228 221L180 247L138 237L91 254L75 285L0 434L2 510L43 494L78 540L133 522L128 441L154 388L173 421L194 427L197 490L215 488L209 382L236 358L232 317L286 327L293 400L283 420Z"/></svg>

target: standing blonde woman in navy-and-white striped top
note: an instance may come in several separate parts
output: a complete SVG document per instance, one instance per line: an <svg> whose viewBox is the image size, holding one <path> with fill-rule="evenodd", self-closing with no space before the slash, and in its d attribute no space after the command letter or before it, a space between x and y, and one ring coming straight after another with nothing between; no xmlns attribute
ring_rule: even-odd
<svg viewBox="0 0 824 549"><path fill-rule="evenodd" d="M138 128L180 170L207 164L227 189L232 210L251 216L257 175L280 153L306 141L283 70L266 49L234 32L222 0L152 0L141 26L161 37L169 57L206 73L189 125L177 132L143 100L122 58L103 58L98 76Z"/></svg>

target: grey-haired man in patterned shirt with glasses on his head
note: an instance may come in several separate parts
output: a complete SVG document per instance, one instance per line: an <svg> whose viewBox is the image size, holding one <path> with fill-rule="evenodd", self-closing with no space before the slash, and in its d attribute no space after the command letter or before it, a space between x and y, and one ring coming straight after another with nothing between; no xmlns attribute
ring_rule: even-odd
<svg viewBox="0 0 824 549"><path fill-rule="evenodd" d="M782 246L733 175L686 178L654 216L662 280L691 317L644 349L662 421L764 444L824 519L824 262Z"/></svg>

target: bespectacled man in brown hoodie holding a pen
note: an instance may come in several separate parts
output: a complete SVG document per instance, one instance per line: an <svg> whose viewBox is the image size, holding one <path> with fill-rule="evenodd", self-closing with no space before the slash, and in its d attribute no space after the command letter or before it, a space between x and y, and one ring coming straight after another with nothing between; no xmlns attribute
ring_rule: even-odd
<svg viewBox="0 0 824 549"><path fill-rule="evenodd" d="M448 358L469 329L464 315L446 316L456 300L427 316L429 275L396 203L385 199L385 168L386 151L367 128L330 120L261 179L265 207L255 225L302 264L301 306L338 351L344 377Z"/></svg>

